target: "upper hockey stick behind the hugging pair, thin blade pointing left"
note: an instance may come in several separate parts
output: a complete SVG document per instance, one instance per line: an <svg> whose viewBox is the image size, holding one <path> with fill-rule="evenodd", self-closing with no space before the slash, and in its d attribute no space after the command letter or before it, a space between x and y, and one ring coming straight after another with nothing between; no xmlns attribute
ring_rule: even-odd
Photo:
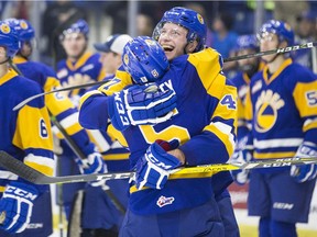
<svg viewBox="0 0 317 237"><path fill-rule="evenodd" d="M242 59L252 58L252 57L261 57L263 55L270 55L270 54L284 54L284 53L289 53L289 52L294 52L294 50L298 50L298 49L313 48L313 47L316 47L316 46L317 46L317 42L309 42L309 43L306 43L306 44L294 45L294 46L284 47L284 48L277 48L277 49L272 49L272 50L266 50L266 52L259 52L259 53L255 53L255 54L249 54L249 55L241 55L241 56L230 57L230 58L223 59L223 63L234 61L234 60L242 60ZM17 111L17 110L21 109L22 106L24 106L30 101L32 101L32 100L34 100L34 99L36 99L39 97L43 97L45 94L57 93L57 92L68 91L68 90L75 90L75 89L80 89L80 88L86 88L86 87L94 87L94 86L102 84L102 83L106 83L106 82L107 81L90 82L90 83L86 83L86 84L67 87L67 88L56 89L56 90L52 90L52 91L48 91L48 92L35 94L33 97L30 97L30 98L25 99L24 101L20 102L19 104L17 104L13 108L13 111Z"/></svg>

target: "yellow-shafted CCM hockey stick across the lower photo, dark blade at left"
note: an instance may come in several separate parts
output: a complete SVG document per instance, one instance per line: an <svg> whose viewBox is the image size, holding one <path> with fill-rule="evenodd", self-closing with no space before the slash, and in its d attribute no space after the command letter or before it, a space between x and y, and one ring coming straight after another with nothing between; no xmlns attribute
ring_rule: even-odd
<svg viewBox="0 0 317 237"><path fill-rule="evenodd" d="M175 170L171 170L168 179L176 177L186 178L187 174L193 173L206 173L212 176L220 171L230 171L239 169L259 169L259 168L275 168L275 167L288 167L292 165L310 165L317 163L317 157L309 158L283 158L283 159L269 159L250 161L245 163L215 163L196 167L185 167ZM35 184L52 184L52 183L72 183L72 182L89 182L99 180L113 180L113 179L130 179L133 178L135 171L127 172L109 172L109 173L91 173L79 176L65 176L65 177L48 177L37 170L29 167L24 162L15 159L3 150L0 150L0 167L8 171L28 180Z"/></svg>

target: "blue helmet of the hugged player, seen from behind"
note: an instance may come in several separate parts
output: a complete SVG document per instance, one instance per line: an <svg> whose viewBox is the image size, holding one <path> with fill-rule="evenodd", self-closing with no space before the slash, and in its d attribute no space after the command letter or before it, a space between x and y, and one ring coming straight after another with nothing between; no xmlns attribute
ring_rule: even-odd
<svg viewBox="0 0 317 237"><path fill-rule="evenodd" d="M122 65L139 84L156 81L170 66L161 45L149 36L139 36L125 44Z"/></svg>

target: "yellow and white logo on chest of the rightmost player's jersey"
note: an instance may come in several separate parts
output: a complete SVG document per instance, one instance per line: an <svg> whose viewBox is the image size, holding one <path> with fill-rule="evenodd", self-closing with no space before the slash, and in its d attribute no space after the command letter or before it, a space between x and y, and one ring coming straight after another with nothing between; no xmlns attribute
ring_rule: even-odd
<svg viewBox="0 0 317 237"><path fill-rule="evenodd" d="M285 102L278 93L274 93L272 90L262 91L255 103L255 129L259 133L270 131L277 120L277 111L284 104Z"/></svg>

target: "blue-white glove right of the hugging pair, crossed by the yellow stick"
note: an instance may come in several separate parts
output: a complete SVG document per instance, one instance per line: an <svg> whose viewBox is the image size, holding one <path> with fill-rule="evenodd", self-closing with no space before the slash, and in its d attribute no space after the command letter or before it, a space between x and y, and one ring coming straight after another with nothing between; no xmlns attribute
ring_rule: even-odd
<svg viewBox="0 0 317 237"><path fill-rule="evenodd" d="M231 162L245 163L252 160L251 151L248 149L237 150L231 157ZM243 185L249 181L249 170L231 170L236 183Z"/></svg>

